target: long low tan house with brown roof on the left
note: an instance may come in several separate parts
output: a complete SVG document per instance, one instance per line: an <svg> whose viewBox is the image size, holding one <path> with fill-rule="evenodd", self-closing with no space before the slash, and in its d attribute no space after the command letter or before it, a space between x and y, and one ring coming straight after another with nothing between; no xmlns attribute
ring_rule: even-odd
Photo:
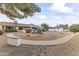
<svg viewBox="0 0 79 59"><path fill-rule="evenodd" d="M36 29L37 25L33 24L21 24L16 22L0 22L0 30L13 29L17 31L25 30L27 28Z"/></svg>

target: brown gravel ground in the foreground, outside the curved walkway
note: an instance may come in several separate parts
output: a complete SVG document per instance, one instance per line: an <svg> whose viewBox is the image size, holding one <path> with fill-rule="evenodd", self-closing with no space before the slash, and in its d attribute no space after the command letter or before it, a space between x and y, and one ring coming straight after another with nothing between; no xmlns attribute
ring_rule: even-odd
<svg viewBox="0 0 79 59"><path fill-rule="evenodd" d="M21 45L6 44L5 35L0 36L0 55L9 56L79 56L79 35L61 45Z"/></svg>

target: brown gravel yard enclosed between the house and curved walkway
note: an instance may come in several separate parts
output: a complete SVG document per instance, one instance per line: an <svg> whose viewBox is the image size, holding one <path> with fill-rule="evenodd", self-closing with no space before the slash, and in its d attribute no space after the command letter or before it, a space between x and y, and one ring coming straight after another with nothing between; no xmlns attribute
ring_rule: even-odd
<svg viewBox="0 0 79 59"><path fill-rule="evenodd" d="M68 34L70 32L44 32L43 34L15 33L16 36L25 40L56 40Z"/></svg>

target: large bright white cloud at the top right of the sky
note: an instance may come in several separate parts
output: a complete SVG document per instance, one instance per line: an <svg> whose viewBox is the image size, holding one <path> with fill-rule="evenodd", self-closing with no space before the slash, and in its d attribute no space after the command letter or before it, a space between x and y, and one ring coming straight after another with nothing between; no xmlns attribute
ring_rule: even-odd
<svg viewBox="0 0 79 59"><path fill-rule="evenodd" d="M65 6L65 3L54 3L50 7L51 10L61 12L61 13L72 13L73 9Z"/></svg>

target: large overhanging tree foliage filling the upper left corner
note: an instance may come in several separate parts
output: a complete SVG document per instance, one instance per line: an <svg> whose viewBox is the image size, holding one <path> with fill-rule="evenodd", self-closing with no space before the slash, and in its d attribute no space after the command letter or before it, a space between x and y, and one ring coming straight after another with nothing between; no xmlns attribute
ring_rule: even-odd
<svg viewBox="0 0 79 59"><path fill-rule="evenodd" d="M33 3L0 3L0 12L10 19L22 19L33 16L41 9Z"/></svg>

